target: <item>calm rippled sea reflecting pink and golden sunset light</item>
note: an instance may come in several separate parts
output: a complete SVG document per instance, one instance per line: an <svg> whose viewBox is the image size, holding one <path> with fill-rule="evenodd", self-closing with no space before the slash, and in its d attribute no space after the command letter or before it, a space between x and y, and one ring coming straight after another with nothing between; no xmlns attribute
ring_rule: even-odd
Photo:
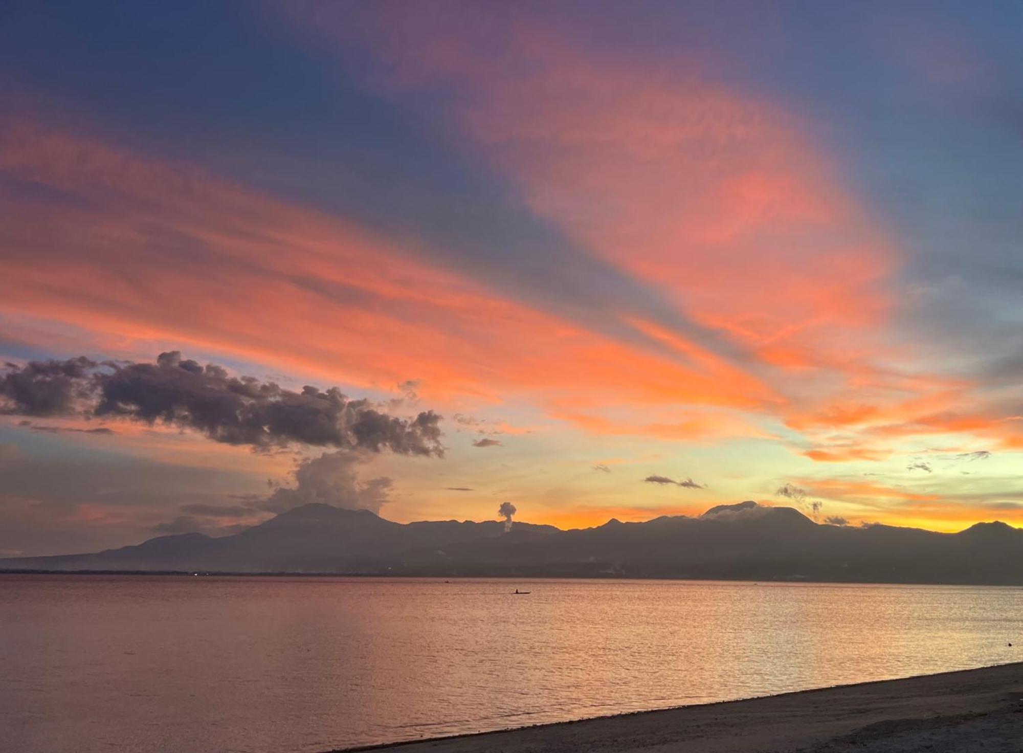
<svg viewBox="0 0 1023 753"><path fill-rule="evenodd" d="M1020 588L8 575L0 748L323 751L1020 652Z"/></svg>

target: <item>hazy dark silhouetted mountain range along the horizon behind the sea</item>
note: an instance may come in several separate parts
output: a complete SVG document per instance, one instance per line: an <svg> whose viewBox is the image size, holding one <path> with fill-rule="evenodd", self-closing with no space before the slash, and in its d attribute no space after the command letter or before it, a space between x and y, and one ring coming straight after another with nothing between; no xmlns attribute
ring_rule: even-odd
<svg viewBox="0 0 1023 753"><path fill-rule="evenodd" d="M619 576L1023 584L1023 530L954 534L818 525L792 507L722 504L699 518L563 531L497 521L394 523L306 504L232 536L162 536L93 555L0 560L5 570Z"/></svg>

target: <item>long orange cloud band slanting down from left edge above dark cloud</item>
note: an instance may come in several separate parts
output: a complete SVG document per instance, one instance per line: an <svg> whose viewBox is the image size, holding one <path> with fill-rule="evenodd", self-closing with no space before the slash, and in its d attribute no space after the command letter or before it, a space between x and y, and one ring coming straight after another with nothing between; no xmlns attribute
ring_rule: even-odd
<svg viewBox="0 0 1023 753"><path fill-rule="evenodd" d="M10 196L18 211L0 221L9 320L62 322L122 352L173 343L354 385L416 378L434 399L764 399L755 380L719 361L686 365L583 330L352 223L187 165L21 123L0 133L0 170L75 197ZM95 195L103 201L82 209Z"/></svg>

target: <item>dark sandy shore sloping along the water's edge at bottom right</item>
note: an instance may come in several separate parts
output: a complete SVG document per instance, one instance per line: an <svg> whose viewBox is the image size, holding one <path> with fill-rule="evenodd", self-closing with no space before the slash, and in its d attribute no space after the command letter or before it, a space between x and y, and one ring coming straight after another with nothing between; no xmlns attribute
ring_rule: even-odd
<svg viewBox="0 0 1023 753"><path fill-rule="evenodd" d="M1023 663L351 750L1021 753Z"/></svg>

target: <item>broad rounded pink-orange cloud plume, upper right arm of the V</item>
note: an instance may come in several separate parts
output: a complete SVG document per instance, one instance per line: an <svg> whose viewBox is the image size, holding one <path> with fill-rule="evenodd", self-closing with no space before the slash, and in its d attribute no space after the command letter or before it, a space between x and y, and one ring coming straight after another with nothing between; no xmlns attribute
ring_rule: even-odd
<svg viewBox="0 0 1023 753"><path fill-rule="evenodd" d="M457 27L413 12L358 33L392 90L458 93L458 127L538 214L782 365L786 349L838 354L883 323L896 253L792 114L684 55L652 74L528 11L499 30L459 12ZM353 33L329 11L316 24ZM485 54L465 28L487 30Z"/></svg>

